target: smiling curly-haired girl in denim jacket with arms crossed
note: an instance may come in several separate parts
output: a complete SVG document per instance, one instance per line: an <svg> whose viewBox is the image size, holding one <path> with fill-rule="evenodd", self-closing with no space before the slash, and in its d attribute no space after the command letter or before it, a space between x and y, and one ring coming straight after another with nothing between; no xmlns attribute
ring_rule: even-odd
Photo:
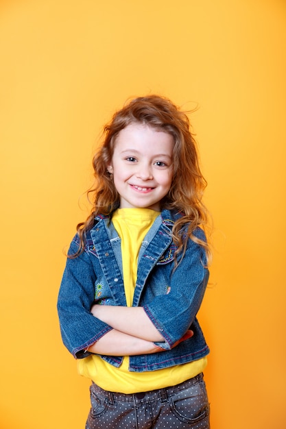
<svg viewBox="0 0 286 429"><path fill-rule="evenodd" d="M93 209L58 297L64 345L92 380L86 429L207 429L196 314L210 252L189 119L164 97L132 100L106 125L93 168Z"/></svg>

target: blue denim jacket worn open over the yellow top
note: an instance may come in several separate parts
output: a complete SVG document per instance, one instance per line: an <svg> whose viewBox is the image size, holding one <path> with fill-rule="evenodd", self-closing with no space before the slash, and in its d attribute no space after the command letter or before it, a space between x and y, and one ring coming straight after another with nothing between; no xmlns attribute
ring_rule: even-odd
<svg viewBox="0 0 286 429"><path fill-rule="evenodd" d="M130 356L130 371L154 371L188 363L208 354L208 346L196 319L206 284L208 269L202 246L188 239L184 257L177 256L171 238L174 222L181 215L163 210L147 232L138 258L137 280L133 306L142 306L165 341L156 343L164 349L154 354ZM204 240L198 228L195 236ZM69 254L78 251L79 238L75 235ZM121 238L110 219L95 218L93 228L86 233L84 252L67 259L58 295L58 315L62 340L76 358L85 352L112 328L91 314L93 303L126 306L123 286ZM188 330L190 339L172 348ZM120 356L102 356L111 365L119 367Z"/></svg>

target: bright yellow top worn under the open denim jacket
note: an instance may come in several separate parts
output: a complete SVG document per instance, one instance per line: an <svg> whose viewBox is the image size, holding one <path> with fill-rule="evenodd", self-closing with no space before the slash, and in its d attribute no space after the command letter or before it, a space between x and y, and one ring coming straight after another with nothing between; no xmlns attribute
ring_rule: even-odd
<svg viewBox="0 0 286 429"><path fill-rule="evenodd" d="M137 262L143 238L159 215L147 208L121 208L112 217L112 223L121 237L123 282L127 306L132 306L136 284ZM125 356L121 367L116 368L93 354L78 360L78 371L108 391L136 393L174 386L196 376L206 367L204 357L191 363L151 372L128 371L129 358Z"/></svg>

